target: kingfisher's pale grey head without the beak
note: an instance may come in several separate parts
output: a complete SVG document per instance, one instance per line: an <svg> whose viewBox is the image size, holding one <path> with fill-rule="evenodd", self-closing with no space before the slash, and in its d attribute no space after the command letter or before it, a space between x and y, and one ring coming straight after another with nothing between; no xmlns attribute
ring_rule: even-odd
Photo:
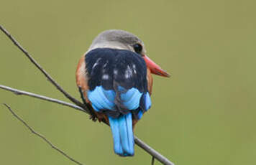
<svg viewBox="0 0 256 165"><path fill-rule="evenodd" d="M136 51L139 47L140 51ZM132 33L119 29L110 29L101 32L95 39L88 51L96 48L112 48L119 50L130 50L145 55L146 50L141 39ZM134 49L135 48L135 49Z"/></svg>

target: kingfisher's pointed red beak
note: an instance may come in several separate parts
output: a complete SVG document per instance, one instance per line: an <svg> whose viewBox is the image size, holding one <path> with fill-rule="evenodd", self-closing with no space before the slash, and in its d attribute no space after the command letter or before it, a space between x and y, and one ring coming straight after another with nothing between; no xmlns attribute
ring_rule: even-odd
<svg viewBox="0 0 256 165"><path fill-rule="evenodd" d="M160 75L163 77L170 77L170 74L168 72L165 72L165 70L163 70L155 62L153 62L149 57L147 57L146 55L142 57L145 60L147 67L150 68L150 71L152 72L152 74Z"/></svg>

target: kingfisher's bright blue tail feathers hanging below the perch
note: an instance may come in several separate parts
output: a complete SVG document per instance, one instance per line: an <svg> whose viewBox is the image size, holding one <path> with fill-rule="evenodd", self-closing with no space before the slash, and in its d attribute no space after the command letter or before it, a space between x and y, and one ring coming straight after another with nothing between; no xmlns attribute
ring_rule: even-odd
<svg viewBox="0 0 256 165"><path fill-rule="evenodd" d="M119 156L133 156L132 113L120 115L118 118L109 116L109 123L113 135L114 152Z"/></svg>

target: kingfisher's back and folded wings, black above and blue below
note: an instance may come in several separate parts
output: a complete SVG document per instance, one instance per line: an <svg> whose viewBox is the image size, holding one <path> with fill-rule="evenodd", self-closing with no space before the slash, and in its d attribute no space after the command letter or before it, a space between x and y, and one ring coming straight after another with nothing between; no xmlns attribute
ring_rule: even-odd
<svg viewBox="0 0 256 165"><path fill-rule="evenodd" d="M87 53L88 100L96 111L112 117L146 110L147 67L135 52L98 48Z"/></svg>

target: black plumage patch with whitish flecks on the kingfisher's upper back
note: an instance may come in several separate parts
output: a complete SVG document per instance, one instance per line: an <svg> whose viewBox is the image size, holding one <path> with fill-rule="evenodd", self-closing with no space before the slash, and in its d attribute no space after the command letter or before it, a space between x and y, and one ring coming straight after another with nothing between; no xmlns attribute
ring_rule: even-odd
<svg viewBox="0 0 256 165"><path fill-rule="evenodd" d="M129 50L98 48L86 55L86 70L90 90L102 85L114 90L115 85L125 89L137 88L147 92L147 67L142 57Z"/></svg>

